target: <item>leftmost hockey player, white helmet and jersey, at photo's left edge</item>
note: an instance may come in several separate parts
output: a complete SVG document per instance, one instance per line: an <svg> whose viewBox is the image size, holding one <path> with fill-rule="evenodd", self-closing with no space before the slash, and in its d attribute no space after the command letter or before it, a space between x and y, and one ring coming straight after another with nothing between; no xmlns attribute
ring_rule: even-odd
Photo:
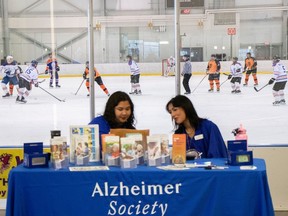
<svg viewBox="0 0 288 216"><path fill-rule="evenodd" d="M5 73L5 76L2 79L1 86L4 91L3 98L7 98L10 96L10 93L7 88L7 84L11 82L13 86L16 87L17 91L19 90L18 86L18 79L17 74L20 73L18 66L15 64L15 61L13 61L13 56L7 56L6 62L4 63L2 70Z"/></svg>

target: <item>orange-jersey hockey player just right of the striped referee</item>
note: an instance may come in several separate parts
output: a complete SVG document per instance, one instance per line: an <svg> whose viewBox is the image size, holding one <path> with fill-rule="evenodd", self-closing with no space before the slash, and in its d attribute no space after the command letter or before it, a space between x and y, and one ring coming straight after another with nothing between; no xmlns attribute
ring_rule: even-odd
<svg viewBox="0 0 288 216"><path fill-rule="evenodd" d="M220 69L220 62L216 59L216 55L212 54L206 69L206 73L209 75L208 80L210 84L210 89L208 90L208 92L214 91L214 83L216 85L217 92L220 92Z"/></svg>

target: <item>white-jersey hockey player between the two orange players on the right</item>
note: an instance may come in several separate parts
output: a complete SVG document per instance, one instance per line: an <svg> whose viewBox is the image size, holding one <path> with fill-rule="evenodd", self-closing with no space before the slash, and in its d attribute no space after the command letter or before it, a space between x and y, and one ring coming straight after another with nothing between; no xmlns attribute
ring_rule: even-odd
<svg viewBox="0 0 288 216"><path fill-rule="evenodd" d="M242 79L242 65L240 64L240 62L238 62L238 58L237 57L233 57L233 62L232 65L230 66L230 71L231 74L229 74L228 79L231 79L230 83L231 83L231 87L232 87L232 91L231 93L241 93L240 90L240 84L241 84L241 79Z"/></svg>

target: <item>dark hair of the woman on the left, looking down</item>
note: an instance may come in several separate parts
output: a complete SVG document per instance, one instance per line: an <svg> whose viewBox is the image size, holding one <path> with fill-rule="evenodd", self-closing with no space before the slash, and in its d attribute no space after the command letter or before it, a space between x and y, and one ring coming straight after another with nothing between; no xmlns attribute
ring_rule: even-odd
<svg viewBox="0 0 288 216"><path fill-rule="evenodd" d="M116 121L115 116L115 107L121 102L121 101L128 101L131 108L131 115L127 119L127 122L121 124ZM135 117L134 117L134 104L129 97L129 95L122 91L114 92L108 99L105 111L103 114L104 118L110 125L110 128L128 128L128 129L135 129Z"/></svg>

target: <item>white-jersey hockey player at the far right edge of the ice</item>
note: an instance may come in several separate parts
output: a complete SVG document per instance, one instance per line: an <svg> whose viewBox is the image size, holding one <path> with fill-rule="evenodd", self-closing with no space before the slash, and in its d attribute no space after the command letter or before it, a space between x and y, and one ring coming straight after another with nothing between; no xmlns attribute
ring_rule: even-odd
<svg viewBox="0 0 288 216"><path fill-rule="evenodd" d="M285 105L284 89L287 83L287 70L286 67L280 62L279 56L273 57L273 77L269 80L268 84L273 85L273 96L275 101L273 105Z"/></svg>

